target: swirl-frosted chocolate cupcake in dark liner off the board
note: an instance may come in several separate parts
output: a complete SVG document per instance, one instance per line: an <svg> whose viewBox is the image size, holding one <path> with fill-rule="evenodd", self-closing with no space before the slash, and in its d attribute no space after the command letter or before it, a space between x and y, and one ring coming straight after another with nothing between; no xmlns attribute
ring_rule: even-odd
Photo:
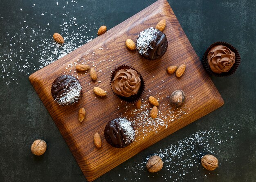
<svg viewBox="0 0 256 182"><path fill-rule="evenodd" d="M225 77L236 72L240 64L240 55L230 44L215 42L204 53L202 64L211 75Z"/></svg>

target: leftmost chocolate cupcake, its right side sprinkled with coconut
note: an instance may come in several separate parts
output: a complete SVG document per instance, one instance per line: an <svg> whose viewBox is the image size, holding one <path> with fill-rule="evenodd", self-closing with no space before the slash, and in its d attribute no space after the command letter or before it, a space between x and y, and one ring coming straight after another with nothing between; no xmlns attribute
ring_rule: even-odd
<svg viewBox="0 0 256 182"><path fill-rule="evenodd" d="M52 83L52 97L59 105L72 105L82 96L80 81L71 75L61 75Z"/></svg>

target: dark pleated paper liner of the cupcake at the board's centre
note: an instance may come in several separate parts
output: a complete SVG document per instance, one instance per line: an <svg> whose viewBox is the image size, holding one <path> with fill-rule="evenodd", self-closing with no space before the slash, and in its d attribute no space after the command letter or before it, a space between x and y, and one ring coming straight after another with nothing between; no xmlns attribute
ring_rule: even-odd
<svg viewBox="0 0 256 182"><path fill-rule="evenodd" d="M142 75L133 67L131 66L128 66L128 65L120 65L118 66L117 68L115 68L115 70L112 72L112 75L110 77L110 86L111 86L111 83L115 77L115 74L118 70L121 70L121 69L132 69L132 70L135 70L138 74L139 74L139 77L141 79L141 86L139 88L139 91L137 92L137 94L135 95L131 95L129 97L125 97L125 96L120 96L118 94L116 94L113 90L113 93L119 97L119 99L123 100L123 101L126 101L128 103L135 103L137 101L139 101L139 99L141 99L141 96L143 95L144 91L145 91L145 83L144 83L144 80L143 80L143 77ZM111 87L112 88L112 87Z"/></svg>

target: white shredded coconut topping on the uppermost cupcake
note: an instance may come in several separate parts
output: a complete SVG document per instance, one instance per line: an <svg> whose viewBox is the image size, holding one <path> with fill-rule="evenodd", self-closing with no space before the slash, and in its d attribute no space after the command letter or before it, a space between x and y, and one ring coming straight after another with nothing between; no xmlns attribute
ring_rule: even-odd
<svg viewBox="0 0 256 182"><path fill-rule="evenodd" d="M150 42L154 39L156 32L157 32L157 29L150 27L142 31L141 33L139 33L139 36L136 40L136 47L139 54L143 55L147 53L149 48L151 48L149 45L150 45Z"/></svg>

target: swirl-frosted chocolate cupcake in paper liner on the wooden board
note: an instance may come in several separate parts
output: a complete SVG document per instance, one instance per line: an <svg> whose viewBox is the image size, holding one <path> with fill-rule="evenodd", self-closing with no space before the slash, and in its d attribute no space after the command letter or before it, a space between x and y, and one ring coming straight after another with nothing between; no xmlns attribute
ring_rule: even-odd
<svg viewBox="0 0 256 182"><path fill-rule="evenodd" d="M112 72L111 88L120 99L130 103L138 101L145 90L142 76L127 65L118 66Z"/></svg>

